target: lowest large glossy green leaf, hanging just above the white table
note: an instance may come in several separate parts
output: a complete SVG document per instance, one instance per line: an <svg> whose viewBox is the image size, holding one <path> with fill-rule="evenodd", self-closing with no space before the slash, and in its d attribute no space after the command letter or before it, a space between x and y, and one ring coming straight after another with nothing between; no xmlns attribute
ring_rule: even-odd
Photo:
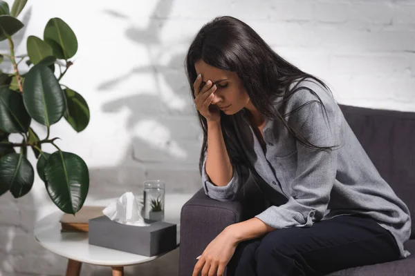
<svg viewBox="0 0 415 276"><path fill-rule="evenodd" d="M64 213L75 215L89 189L89 171L84 160L59 150L46 161L44 173L50 199Z"/></svg>

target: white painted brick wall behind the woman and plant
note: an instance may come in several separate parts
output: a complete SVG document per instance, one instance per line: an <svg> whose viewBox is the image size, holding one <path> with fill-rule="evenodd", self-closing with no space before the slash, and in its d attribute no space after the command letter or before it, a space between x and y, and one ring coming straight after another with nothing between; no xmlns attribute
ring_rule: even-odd
<svg viewBox="0 0 415 276"><path fill-rule="evenodd" d="M217 15L248 23L288 61L326 81L339 103L415 111L412 0L37 0L28 7L24 41L42 37L51 17L77 34L79 51L64 83L88 101L91 124L76 134L62 121L52 135L89 165L90 200L140 194L145 179L165 179L169 193L201 187L201 131L183 59L197 30ZM26 52L20 42L18 54ZM0 43L0 52L6 49ZM44 137L44 128L35 128ZM54 210L39 179L24 198L0 198L0 275L64 274L66 260L33 238L35 220ZM127 274L167 275L177 260L174 252ZM82 270L101 273L109 271Z"/></svg>

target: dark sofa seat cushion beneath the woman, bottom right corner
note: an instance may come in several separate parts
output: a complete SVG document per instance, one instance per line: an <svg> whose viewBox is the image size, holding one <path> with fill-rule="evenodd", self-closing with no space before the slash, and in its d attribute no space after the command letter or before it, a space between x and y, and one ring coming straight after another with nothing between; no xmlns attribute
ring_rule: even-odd
<svg viewBox="0 0 415 276"><path fill-rule="evenodd" d="M409 252L415 252L415 240L409 239L405 243L405 248ZM394 262L374 264L371 266L358 266L356 268L347 268L330 273L329 276L413 276L415 275L415 255L409 255L405 259L399 259Z"/></svg>

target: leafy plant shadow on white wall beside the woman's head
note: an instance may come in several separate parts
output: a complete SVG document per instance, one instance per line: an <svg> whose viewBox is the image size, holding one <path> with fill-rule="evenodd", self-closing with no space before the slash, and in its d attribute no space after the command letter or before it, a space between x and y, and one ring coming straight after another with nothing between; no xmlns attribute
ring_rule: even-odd
<svg viewBox="0 0 415 276"><path fill-rule="evenodd" d="M140 168L146 168L147 164L153 168L162 167L163 164L176 167L183 164L192 171L199 165L201 129L184 68L184 45L190 44L190 38L178 38L180 40L167 45L163 44L161 38L173 3L158 1L145 28L130 25L125 30L125 36L139 46L138 50L147 50L149 65L137 66L127 74L104 81L98 90L111 91L116 97L125 81L138 79L140 75L150 75L154 79L154 88L140 91L139 95L131 92L130 96L104 103L102 110L116 112L127 109L131 114L126 128L133 132L133 139L124 156L125 160L132 160ZM117 20L130 21L124 14L104 12ZM167 63L163 62L166 56L170 57ZM195 186L191 188L194 190Z"/></svg>

